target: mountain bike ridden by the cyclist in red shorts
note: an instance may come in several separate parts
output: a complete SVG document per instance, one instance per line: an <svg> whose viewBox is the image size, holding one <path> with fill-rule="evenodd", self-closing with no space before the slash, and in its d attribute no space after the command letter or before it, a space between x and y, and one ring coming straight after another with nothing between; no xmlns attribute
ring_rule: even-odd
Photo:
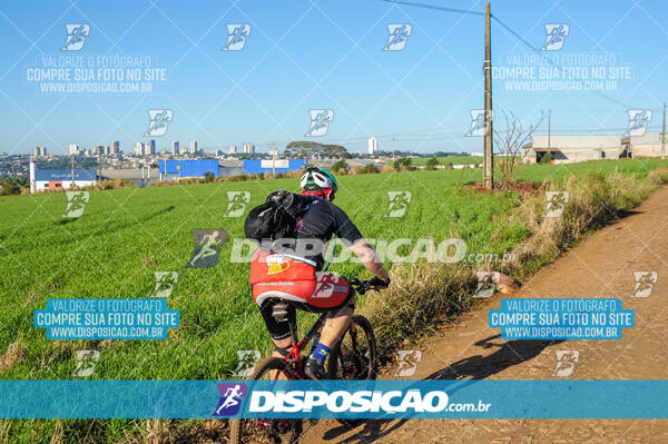
<svg viewBox="0 0 668 444"><path fill-rule="evenodd" d="M350 279L350 285L358 295L369 290L377 290L371 280ZM308 343L313 341L311 351L315 349L326 313L323 313L308 329L302 341L297 341L297 326L289 323L293 346L285 357L267 357L256 365L249 379L257 381L293 381L304 379L304 363L308 355L302 355ZM371 323L364 316L354 315L351 325L332 348L325 363L327 379L375 379L376 376L376 344ZM314 420L229 420L229 436L232 444L240 443L282 443L288 438L295 443L304 433L304 422L311 425ZM358 421L358 420L357 420ZM354 425L355 420L340 420L343 424Z"/></svg>

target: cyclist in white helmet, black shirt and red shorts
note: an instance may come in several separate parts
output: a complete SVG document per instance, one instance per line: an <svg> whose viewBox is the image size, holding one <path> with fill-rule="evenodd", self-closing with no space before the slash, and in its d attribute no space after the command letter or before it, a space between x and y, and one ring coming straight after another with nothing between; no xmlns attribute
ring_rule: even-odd
<svg viewBox="0 0 668 444"><path fill-rule="evenodd" d="M285 247L278 254L275 247L271 251L261 247L250 264L250 284L253 297L274 341L274 356L287 356L293 345L289 323L277 317L294 323L295 307L327 313L320 341L304 366L307 377L322 379L324 361L345 334L356 299L355 290L343 277L323 272L325 251L322 246L336 235L375 275L372 285L387 287L390 277L357 227L332 204L338 189L332 172L326 168L310 167L302 176L301 186L304 205L296 218L293 247Z"/></svg>

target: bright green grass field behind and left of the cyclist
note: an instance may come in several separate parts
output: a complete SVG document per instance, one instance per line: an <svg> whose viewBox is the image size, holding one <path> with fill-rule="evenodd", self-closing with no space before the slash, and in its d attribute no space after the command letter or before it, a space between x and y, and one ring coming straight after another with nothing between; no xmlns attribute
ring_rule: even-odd
<svg viewBox="0 0 668 444"><path fill-rule="evenodd" d="M668 161L523 166L517 169L517 178L559 182L571 174L616 169L644 177L658 166ZM458 181L480 181L481 175L480 169L464 169L342 176L335 203L369 238L460 237L469 253L502 254L528 235L519 223L503 223L520 198L454 188ZM223 217L226 191L250 191L247 213L269 191L296 190L297 184L297 179L276 179L91 191L84 216L71 221L61 217L65 194L0 198L0 355L14 342L26 347L21 359L4 369L0 366L0 378L71 378L76 349L100 349L91 376L100 379L220 379L230 376L237 351L266 354L269 341L249 295L248 265L228 260L232 239L243 237L244 218ZM390 190L412 193L403 218L384 217ZM185 268L195 228L224 228L229 234L213 268ZM33 310L45 308L48 298L148 297L154 272L167 270L178 272L169 308L181 315L180 328L170 330L167 341L105 346L53 342L32 326ZM333 270L370 277L356 264L336 264ZM122 436L121 428L122 422L108 422L109 442ZM49 430L45 428L45 436Z"/></svg>

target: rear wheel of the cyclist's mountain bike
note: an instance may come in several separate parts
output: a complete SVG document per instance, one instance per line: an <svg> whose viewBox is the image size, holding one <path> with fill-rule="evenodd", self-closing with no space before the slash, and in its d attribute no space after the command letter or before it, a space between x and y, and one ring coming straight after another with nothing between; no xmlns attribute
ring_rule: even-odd
<svg viewBox="0 0 668 444"><path fill-rule="evenodd" d="M292 376L289 364L279 357L267 357L255 367L249 379L283 381ZM232 444L294 443L303 432L303 420L229 420Z"/></svg>

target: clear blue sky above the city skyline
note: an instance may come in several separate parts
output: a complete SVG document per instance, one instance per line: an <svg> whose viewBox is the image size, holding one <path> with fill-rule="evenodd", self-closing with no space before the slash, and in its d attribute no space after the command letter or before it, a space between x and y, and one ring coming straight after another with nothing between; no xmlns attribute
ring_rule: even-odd
<svg viewBox="0 0 668 444"><path fill-rule="evenodd" d="M420 2L484 9L480 1ZM533 48L543 46L546 23L568 24L563 48L549 56L606 56L608 61L599 65L606 72L623 66L630 73L605 97L572 86L517 91L495 79L498 128L503 109L525 124L551 109L553 134L621 134L627 108L651 109L650 129L660 128L668 26L658 20L666 17L666 2L503 0L491 8ZM484 23L478 14L381 0L23 1L4 3L0 11L0 151L28 152L45 145L50 152L66 152L69 144L91 147L117 139L128 152L148 139L148 109L174 111L167 132L156 137L158 149L175 139L196 139L207 150L246 141L261 151L271 142L282 148L305 139L310 109L334 110L326 136L313 139L351 151L364 151L370 136L379 137L381 149L391 149L393 135L397 149L482 147L480 138L464 137L469 110L483 102ZM90 27L80 51L61 51L67 23ZM222 50L228 23L250 24L240 51ZM383 51L389 23L412 27L401 51ZM492 38L497 67L515 68L518 56L537 55L497 21ZM70 55L150 57L167 80L151 83L150 93L66 95L40 92L39 83L28 79L30 69L42 67L43 56ZM542 125L539 132L546 130Z"/></svg>

